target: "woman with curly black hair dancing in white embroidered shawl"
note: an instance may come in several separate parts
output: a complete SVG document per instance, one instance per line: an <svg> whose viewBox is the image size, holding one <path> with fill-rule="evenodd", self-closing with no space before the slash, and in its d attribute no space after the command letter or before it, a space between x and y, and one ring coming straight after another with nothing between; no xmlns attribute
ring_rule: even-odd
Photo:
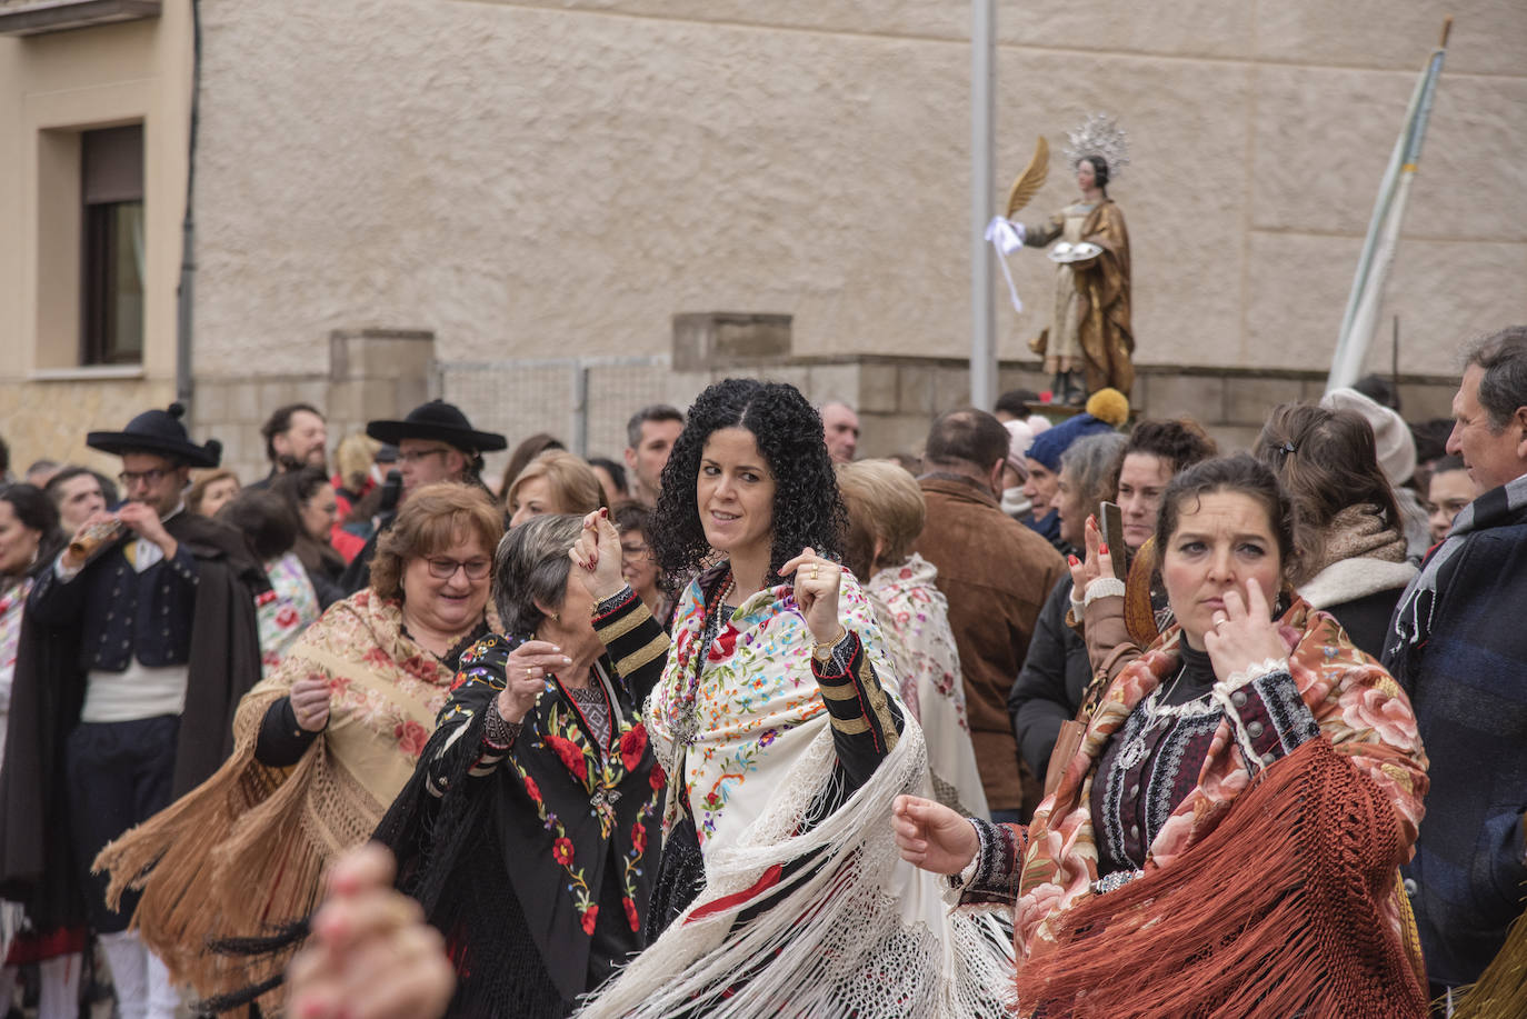
<svg viewBox="0 0 1527 1019"><path fill-rule="evenodd" d="M728 379L687 422L647 533L687 584L646 704L667 776L655 943L580 1014L996 1014L1000 943L989 972L945 972L948 940L980 937L889 837L927 755L838 562L822 420L794 387Z"/></svg>

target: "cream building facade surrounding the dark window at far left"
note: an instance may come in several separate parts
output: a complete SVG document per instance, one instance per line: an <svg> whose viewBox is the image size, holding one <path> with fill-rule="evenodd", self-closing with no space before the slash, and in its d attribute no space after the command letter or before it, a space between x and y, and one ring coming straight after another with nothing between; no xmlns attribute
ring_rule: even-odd
<svg viewBox="0 0 1527 1019"><path fill-rule="evenodd" d="M159 18L0 37L0 435L15 467L46 457L115 471L84 449L84 432L174 397L189 93L185 0ZM72 370L79 168L69 139L128 122L144 124L144 364Z"/></svg>

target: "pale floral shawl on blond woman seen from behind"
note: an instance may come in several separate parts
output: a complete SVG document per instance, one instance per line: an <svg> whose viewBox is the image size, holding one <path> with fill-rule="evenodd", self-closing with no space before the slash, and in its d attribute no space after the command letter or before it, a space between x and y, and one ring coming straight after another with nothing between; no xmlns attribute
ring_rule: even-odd
<svg viewBox="0 0 1527 1019"><path fill-rule="evenodd" d="M875 607L901 680L901 700L922 723L935 793L967 816L988 817L986 790L965 717L959 649L950 629L948 600L935 585L938 574L931 562L912 553L899 567L872 576L864 593Z"/></svg>

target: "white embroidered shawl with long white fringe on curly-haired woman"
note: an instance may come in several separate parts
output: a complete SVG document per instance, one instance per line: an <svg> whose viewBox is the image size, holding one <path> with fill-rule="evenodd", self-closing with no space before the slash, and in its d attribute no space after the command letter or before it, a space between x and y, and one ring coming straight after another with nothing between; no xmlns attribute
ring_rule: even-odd
<svg viewBox="0 0 1527 1019"><path fill-rule="evenodd" d="M870 779L838 810L814 817L832 782L835 752L811 677L811 636L791 590L748 599L730 632L709 648L696 642L702 614L699 585L692 584L647 718L658 759L673 775L687 668L695 654L705 654L698 698L704 724L680 785L698 804L705 888L579 1014L1005 1014L1012 981L1008 935L988 917L950 915L944 878L896 852L892 801L931 794L916 720L902 710L906 729ZM869 602L847 574L840 622L863 640L886 695L898 698ZM788 866L805 859L806 866Z"/></svg>

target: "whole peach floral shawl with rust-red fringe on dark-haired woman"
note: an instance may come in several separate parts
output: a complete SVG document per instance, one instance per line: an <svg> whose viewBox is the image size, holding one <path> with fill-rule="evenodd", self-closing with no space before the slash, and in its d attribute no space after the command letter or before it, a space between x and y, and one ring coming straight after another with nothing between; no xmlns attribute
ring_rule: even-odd
<svg viewBox="0 0 1527 1019"><path fill-rule="evenodd" d="M1397 880L1426 790L1414 715L1330 616L1296 599L1280 623L1321 736L1252 778L1219 733L1145 874L1098 895L1092 773L1135 704L1176 672L1180 631L1164 632L1104 694L1028 831L1015 912L1022 1014L1425 1016L1420 946Z"/></svg>

